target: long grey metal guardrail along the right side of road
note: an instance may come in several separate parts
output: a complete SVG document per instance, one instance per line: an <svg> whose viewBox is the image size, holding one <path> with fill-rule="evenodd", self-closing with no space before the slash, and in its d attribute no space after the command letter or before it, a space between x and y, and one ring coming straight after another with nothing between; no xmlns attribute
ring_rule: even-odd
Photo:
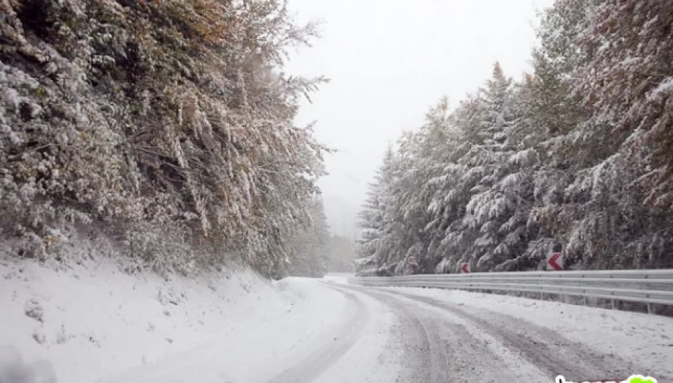
<svg viewBox="0 0 673 383"><path fill-rule="evenodd" d="M478 272L417 274L400 277L353 277L351 284L373 287L533 292L584 296L673 306L673 270L600 270L561 272Z"/></svg>

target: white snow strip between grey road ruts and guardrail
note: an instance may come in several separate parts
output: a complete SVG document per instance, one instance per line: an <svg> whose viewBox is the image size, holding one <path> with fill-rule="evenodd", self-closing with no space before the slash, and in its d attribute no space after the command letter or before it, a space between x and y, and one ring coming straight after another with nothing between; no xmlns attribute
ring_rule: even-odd
<svg viewBox="0 0 673 383"><path fill-rule="evenodd" d="M463 306L463 309L504 313L550 328L605 355L638 361L659 377L673 377L673 318L461 290L383 289L427 296Z"/></svg>

